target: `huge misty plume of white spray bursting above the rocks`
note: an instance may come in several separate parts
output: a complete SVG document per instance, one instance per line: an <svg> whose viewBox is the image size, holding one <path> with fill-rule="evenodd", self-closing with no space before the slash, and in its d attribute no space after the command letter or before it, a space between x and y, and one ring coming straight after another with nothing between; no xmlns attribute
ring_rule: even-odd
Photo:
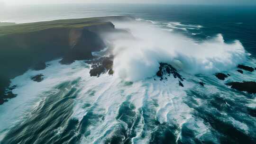
<svg viewBox="0 0 256 144"><path fill-rule="evenodd" d="M126 81L154 76L159 62L170 63L184 72L198 74L227 71L246 61L247 53L243 45L238 40L226 44L221 34L196 43L190 38L151 27L142 21L115 25L117 28L128 28L135 37L110 36L115 37L114 71Z"/></svg>

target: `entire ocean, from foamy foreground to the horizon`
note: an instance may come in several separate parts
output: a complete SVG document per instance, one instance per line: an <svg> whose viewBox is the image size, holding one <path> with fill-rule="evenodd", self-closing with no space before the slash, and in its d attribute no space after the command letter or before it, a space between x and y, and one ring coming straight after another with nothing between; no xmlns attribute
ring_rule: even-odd
<svg viewBox="0 0 256 144"><path fill-rule="evenodd" d="M255 94L225 85L256 81L255 72L237 72L256 67L255 6L33 5L1 9L0 22L119 15L136 18L114 25L141 41L115 41L114 76L54 60L14 78L17 97L0 105L0 144L256 143ZM176 64L183 87L159 80L164 62ZM230 76L220 81L216 72ZM39 73L44 81L30 80Z"/></svg>

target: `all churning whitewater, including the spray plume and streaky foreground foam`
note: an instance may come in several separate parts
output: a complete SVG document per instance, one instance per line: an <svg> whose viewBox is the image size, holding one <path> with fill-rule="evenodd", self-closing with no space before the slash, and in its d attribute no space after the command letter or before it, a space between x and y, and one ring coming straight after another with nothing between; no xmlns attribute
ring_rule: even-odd
<svg viewBox="0 0 256 144"><path fill-rule="evenodd" d="M139 18L113 22L130 35L105 34L113 54L114 75L91 77L91 65L75 61L46 63L11 80L17 98L0 106L1 144L253 144L255 95L232 90L228 81L255 81L237 72L244 63L256 67L239 40L226 43L221 34L197 41L174 29L201 25ZM193 35L193 33L191 33ZM184 78L156 76L168 63ZM214 73L230 76L219 81ZM44 75L44 81L30 78ZM199 82L203 82L201 86ZM237 139L237 136L240 139Z"/></svg>

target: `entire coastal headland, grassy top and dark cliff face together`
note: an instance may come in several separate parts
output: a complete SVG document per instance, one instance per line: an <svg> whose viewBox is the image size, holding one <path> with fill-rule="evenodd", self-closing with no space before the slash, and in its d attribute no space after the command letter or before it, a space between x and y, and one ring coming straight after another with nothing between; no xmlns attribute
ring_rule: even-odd
<svg viewBox="0 0 256 144"><path fill-rule="evenodd" d="M5 94L10 79L38 63L57 58L62 58L62 64L92 59L91 52L106 47L101 35L118 31L110 20L123 18L67 19L0 27L0 96ZM0 97L0 103L3 101Z"/></svg>

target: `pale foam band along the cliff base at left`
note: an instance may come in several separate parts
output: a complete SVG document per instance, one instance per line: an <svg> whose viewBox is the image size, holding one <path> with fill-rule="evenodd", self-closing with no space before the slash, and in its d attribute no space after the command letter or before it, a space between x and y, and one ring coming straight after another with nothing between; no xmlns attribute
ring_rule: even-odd
<svg viewBox="0 0 256 144"><path fill-rule="evenodd" d="M50 66L42 71L27 71L23 75L11 80L11 85L17 85L13 90L18 96L9 99L8 102L0 106L0 140L9 131L10 128L20 124L26 117L29 117L31 111L37 109L39 103L44 101L46 95L44 92L50 91L51 94L58 92L54 89L57 84L64 81L74 80L81 77L84 73L89 76L89 67L86 64L75 62L71 65L61 65L59 60L52 61ZM44 80L35 82L30 79L31 76L43 74Z"/></svg>

